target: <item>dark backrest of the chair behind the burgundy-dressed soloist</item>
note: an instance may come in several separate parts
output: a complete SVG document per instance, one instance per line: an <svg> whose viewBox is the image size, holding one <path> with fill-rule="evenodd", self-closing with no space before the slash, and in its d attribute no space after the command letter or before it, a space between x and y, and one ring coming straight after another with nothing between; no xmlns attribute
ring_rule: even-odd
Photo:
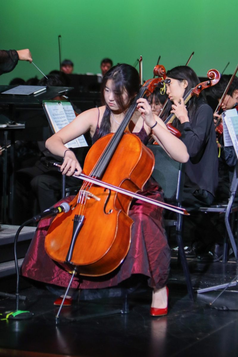
<svg viewBox="0 0 238 357"><path fill-rule="evenodd" d="M181 202L184 183L185 164L177 162L159 145L147 145L155 156L155 167L152 177L164 191L166 201Z"/></svg>

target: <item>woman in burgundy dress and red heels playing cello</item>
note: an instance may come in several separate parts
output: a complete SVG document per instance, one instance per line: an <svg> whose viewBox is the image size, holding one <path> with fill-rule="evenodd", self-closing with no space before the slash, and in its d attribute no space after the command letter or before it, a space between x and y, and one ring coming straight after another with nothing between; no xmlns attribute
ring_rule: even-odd
<svg viewBox="0 0 238 357"><path fill-rule="evenodd" d="M136 69L127 64L112 67L102 79L103 106L81 113L69 125L54 134L46 141L46 147L52 154L64 157L61 166L62 174L71 176L82 171L74 153L65 147L66 142L90 130L92 141L110 132L115 132L133 98L140 87ZM174 160L186 162L188 153L183 142L174 137L162 120L152 114L146 99L137 100L137 110L132 116L132 133L146 144L153 134L155 140ZM126 160L125 156L122 157ZM144 195L161 200L162 193L156 182L150 179L145 185ZM168 279L170 249L163 228L162 210L157 206L135 201L131 205L129 216L133 219L131 245L123 263L113 272L99 278L80 276L74 278L72 287L94 289L116 286L130 278L132 274L143 274L148 277L148 285L153 288L151 315L167 314ZM96 219L96 217L93 217ZM22 265L22 274L31 279L66 287L69 273L64 271L46 255L42 236L45 236L49 223L40 223L33 242ZM44 240L43 240L44 241ZM59 299L58 299L59 300ZM62 299L61 299L62 301Z"/></svg>

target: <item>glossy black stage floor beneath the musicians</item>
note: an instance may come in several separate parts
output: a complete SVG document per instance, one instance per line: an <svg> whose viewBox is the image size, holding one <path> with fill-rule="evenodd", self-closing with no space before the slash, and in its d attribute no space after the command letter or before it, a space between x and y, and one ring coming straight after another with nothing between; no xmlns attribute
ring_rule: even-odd
<svg viewBox="0 0 238 357"><path fill-rule="evenodd" d="M196 289L229 282L237 274L232 260L205 264L191 259L189 269ZM7 282L10 289L10 278ZM213 308L209 303L218 291L198 294L193 303L175 258L168 282L169 313L160 318L149 315L151 291L142 285L129 296L128 314L86 318L120 309L120 297L75 301L62 309L56 324L55 296L44 286L27 284L21 281L20 294L27 299L20 301L20 308L34 317L0 321L0 356L238 356L238 287L224 292ZM0 285L7 288L6 282ZM14 300L1 298L0 312L14 309Z"/></svg>

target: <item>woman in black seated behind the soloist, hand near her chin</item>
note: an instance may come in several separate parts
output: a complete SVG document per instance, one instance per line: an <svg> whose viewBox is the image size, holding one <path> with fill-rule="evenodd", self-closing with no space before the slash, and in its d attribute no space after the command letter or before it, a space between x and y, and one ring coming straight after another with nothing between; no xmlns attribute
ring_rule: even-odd
<svg viewBox="0 0 238 357"><path fill-rule="evenodd" d="M209 244L207 222L204 215L195 210L201 206L212 204L218 184L218 157L216 134L213 125L213 112L206 104L201 92L199 97L193 96L187 105L183 97L199 84L199 79L192 68L178 66L167 71L166 84L169 101L164 112L164 119L170 113L176 115L173 122L182 133L182 141L187 147L189 160L185 167L185 181L182 206L190 210L191 216L184 219L184 241L189 248L186 255L190 257L203 253ZM186 237L187 236L187 237Z"/></svg>

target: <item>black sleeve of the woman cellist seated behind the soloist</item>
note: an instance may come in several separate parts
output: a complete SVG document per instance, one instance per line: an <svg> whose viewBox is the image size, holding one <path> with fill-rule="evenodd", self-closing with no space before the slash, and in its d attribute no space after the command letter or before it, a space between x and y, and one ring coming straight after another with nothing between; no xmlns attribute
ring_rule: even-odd
<svg viewBox="0 0 238 357"><path fill-rule="evenodd" d="M182 141L187 147L190 157L195 157L206 144L213 122L212 108L201 105L190 122L178 125L182 132Z"/></svg>

